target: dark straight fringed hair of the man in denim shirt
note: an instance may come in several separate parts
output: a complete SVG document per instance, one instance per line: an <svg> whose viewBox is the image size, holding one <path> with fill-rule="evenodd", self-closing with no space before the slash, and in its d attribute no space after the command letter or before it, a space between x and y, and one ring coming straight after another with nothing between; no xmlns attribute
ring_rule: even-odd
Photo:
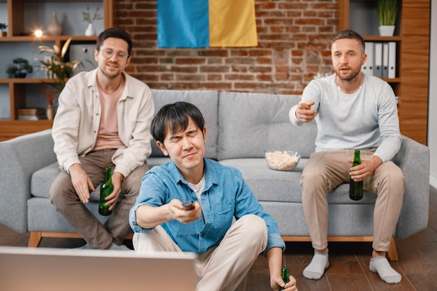
<svg viewBox="0 0 437 291"><path fill-rule="evenodd" d="M157 142L164 142L166 133L175 133L179 130L186 130L189 118L200 130L205 127L205 119L202 112L195 105L188 102L177 102L161 107L154 119L151 121L150 133Z"/></svg>

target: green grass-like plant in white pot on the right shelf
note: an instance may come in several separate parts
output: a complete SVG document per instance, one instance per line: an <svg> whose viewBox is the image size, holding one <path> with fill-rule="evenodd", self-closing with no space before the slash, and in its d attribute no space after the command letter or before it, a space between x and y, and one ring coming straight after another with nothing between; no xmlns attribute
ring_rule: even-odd
<svg viewBox="0 0 437 291"><path fill-rule="evenodd" d="M393 36L398 12L398 0L378 0L380 36Z"/></svg>

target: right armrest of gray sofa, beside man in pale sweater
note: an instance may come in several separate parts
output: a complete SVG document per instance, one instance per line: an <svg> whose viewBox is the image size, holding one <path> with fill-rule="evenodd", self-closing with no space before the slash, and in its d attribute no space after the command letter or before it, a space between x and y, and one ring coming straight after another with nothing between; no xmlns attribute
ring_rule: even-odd
<svg viewBox="0 0 437 291"><path fill-rule="evenodd" d="M401 216L396 229L400 239L427 228L429 216L429 148L402 136L401 149L393 158L406 179Z"/></svg>

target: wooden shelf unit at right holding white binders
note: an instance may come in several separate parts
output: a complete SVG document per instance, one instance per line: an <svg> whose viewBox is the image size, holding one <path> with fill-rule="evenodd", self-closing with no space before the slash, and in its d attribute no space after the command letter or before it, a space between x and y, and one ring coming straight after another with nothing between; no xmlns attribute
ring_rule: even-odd
<svg viewBox="0 0 437 291"><path fill-rule="evenodd" d="M338 0L338 29L350 28L350 3L366 2L376 6L376 0ZM427 144L429 98L429 0L399 0L397 35L363 36L366 41L395 41L397 49L397 78L383 79L399 96L401 133L421 144ZM368 25L363 23L362 25Z"/></svg>

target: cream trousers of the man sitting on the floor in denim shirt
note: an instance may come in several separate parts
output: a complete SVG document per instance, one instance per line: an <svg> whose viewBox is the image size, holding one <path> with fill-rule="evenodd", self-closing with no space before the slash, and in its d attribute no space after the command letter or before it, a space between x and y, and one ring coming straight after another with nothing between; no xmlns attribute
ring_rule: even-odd
<svg viewBox="0 0 437 291"><path fill-rule="evenodd" d="M198 255L196 291L234 291L267 246L267 226L259 216L246 215L226 232L218 246ZM181 252L163 227L133 234L137 253L147 251Z"/></svg>

